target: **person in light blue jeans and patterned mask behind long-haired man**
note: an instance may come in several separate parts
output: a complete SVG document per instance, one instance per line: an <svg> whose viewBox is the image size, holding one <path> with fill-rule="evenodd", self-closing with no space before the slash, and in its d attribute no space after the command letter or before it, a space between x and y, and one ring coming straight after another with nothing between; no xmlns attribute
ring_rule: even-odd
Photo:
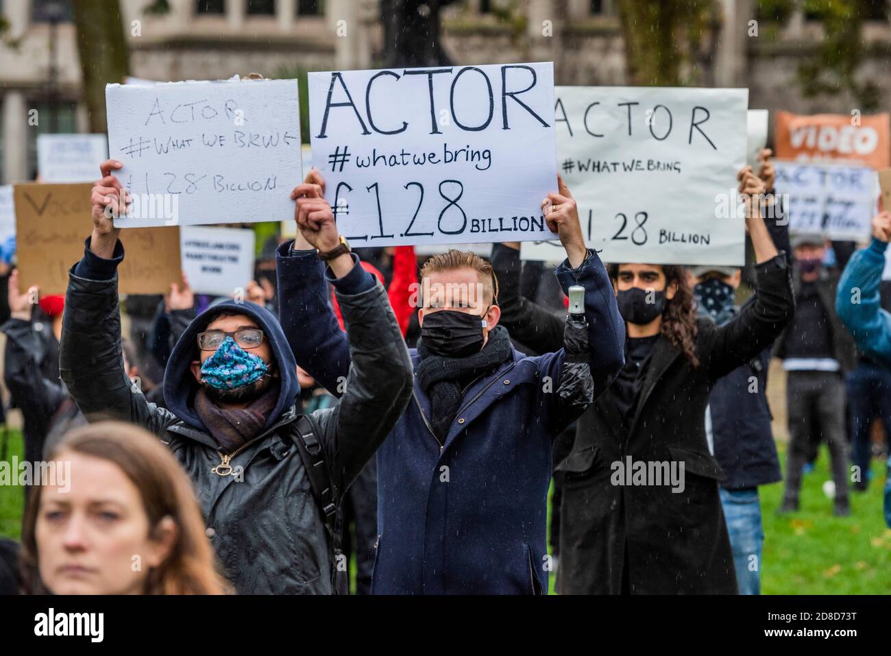
<svg viewBox="0 0 891 656"><path fill-rule="evenodd" d="M789 226L773 189L775 175L770 157L770 149L759 155L758 177L766 189L762 215L772 242L791 266ZM690 283L699 316L722 326L753 304L755 299L750 298L743 307L735 305L741 276L739 267L692 266ZM782 480L767 404L771 348L772 344L768 345L717 381L706 408L709 451L726 476L719 491L740 594L761 593L764 529L758 487Z"/></svg>

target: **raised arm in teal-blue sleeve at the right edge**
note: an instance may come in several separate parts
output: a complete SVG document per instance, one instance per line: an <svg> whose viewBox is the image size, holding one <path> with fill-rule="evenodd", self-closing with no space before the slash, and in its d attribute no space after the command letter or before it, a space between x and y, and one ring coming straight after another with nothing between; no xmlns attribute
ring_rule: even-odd
<svg viewBox="0 0 891 656"><path fill-rule="evenodd" d="M891 368L891 314L881 307L879 284L891 240L891 213L872 219L872 241L851 256L838 281L836 311L857 348Z"/></svg>

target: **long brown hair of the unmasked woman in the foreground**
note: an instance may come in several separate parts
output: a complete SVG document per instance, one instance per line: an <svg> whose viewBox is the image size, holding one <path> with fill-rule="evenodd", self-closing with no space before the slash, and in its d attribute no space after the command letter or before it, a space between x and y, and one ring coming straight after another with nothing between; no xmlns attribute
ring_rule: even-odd
<svg viewBox="0 0 891 656"><path fill-rule="evenodd" d="M204 521L192 483L157 437L124 422L97 422L66 435L47 460L64 451L116 464L142 496L150 535L170 517L176 539L168 557L148 575L144 594L225 594L229 584L219 574L217 559L204 533ZM31 489L21 535L20 567L27 594L49 592L40 580L37 513L41 486Z"/></svg>

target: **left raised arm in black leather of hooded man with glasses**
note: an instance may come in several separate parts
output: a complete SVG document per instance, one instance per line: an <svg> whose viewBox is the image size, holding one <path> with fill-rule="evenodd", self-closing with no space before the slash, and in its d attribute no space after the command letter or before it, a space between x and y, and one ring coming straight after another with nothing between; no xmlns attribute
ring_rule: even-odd
<svg viewBox="0 0 891 656"><path fill-rule="evenodd" d="M149 404L124 371L121 357L118 265L124 246L108 214L116 215L122 192L111 170L117 161L102 163L102 180L93 187L93 234L84 257L69 272L68 293L59 354L59 372L86 418L119 419L157 435L176 418Z"/></svg>

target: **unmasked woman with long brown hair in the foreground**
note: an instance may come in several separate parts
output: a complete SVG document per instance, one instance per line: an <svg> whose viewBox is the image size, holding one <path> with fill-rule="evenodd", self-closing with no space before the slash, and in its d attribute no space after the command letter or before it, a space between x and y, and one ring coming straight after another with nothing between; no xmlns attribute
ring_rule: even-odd
<svg viewBox="0 0 891 656"><path fill-rule="evenodd" d="M94 423L69 433L49 460L65 473L41 481L25 514L26 594L228 591L192 485L150 433Z"/></svg>

